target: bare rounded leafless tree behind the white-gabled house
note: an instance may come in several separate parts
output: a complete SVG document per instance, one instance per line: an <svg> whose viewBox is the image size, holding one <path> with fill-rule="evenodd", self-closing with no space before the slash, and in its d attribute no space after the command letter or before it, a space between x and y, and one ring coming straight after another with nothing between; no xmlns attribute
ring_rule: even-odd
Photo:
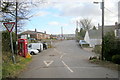
<svg viewBox="0 0 120 80"><path fill-rule="evenodd" d="M80 20L80 24L82 25L82 28L84 29L84 30L90 30L90 28L91 28L91 20L89 20L89 19L82 19L82 20Z"/></svg>

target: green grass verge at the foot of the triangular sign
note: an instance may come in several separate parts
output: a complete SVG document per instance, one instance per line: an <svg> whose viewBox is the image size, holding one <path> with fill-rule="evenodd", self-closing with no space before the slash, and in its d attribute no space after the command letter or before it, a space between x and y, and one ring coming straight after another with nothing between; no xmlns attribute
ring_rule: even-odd
<svg viewBox="0 0 120 80"><path fill-rule="evenodd" d="M4 57L4 56L3 56ZM9 57L8 57L9 58ZM6 59L8 59L6 58ZM16 56L16 64L13 62L5 61L2 63L2 78L15 78L21 71L26 68L26 65L32 60L32 58L23 58Z"/></svg>

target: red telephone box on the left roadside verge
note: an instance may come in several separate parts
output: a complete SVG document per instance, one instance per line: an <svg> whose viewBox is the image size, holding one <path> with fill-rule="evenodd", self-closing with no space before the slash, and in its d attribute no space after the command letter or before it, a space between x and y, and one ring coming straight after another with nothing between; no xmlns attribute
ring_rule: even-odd
<svg viewBox="0 0 120 80"><path fill-rule="evenodd" d="M18 54L20 56L26 57L28 54L27 49L27 39L18 39Z"/></svg>

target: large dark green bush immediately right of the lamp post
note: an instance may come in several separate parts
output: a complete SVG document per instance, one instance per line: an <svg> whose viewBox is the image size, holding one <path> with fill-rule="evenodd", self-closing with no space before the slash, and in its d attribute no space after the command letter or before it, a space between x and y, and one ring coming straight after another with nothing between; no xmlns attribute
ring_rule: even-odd
<svg viewBox="0 0 120 80"><path fill-rule="evenodd" d="M112 56L120 52L120 41L115 38L114 32L104 36L103 56L105 60L112 61Z"/></svg>

